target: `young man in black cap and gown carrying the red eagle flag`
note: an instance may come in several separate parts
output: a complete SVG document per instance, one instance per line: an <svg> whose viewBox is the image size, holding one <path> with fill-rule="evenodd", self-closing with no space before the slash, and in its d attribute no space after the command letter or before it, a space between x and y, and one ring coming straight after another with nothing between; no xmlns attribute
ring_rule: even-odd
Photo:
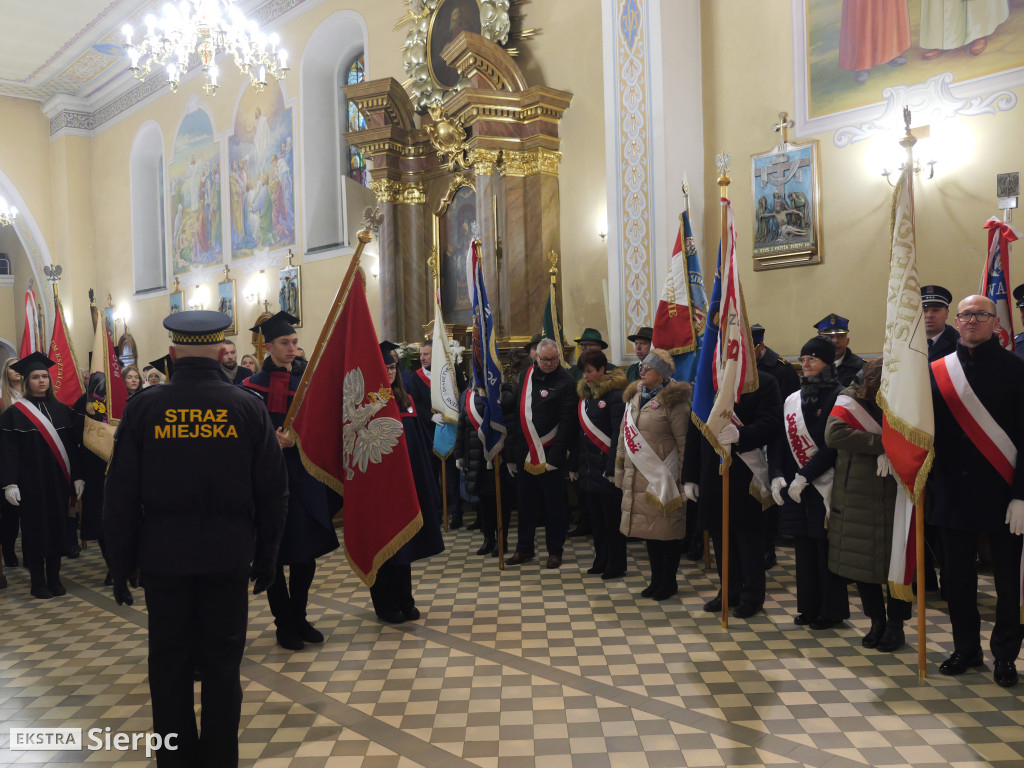
<svg viewBox="0 0 1024 768"><path fill-rule="evenodd" d="M267 357L259 373L242 384L266 403L288 467L288 520L281 538L276 577L266 591L278 645L288 650L302 650L305 643L324 642L324 635L306 618L306 605L316 572L316 558L338 549L327 486L306 471L295 445L295 435L284 429L285 417L301 381L301 375L295 371L299 337L292 326L298 322L298 317L288 312L278 312L250 329L263 334ZM289 571L287 580L285 565Z"/></svg>

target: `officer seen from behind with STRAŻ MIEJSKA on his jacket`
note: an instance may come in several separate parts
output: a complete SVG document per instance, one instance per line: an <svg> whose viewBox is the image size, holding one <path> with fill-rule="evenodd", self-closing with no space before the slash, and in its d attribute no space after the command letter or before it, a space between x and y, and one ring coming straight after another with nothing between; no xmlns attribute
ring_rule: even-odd
<svg viewBox="0 0 1024 768"><path fill-rule="evenodd" d="M174 376L129 401L106 472L103 532L115 584L142 571L160 768L238 765L247 584L255 580L258 593L272 582L288 510L285 459L266 409L221 374L228 325L214 311L164 319ZM115 599L123 600L118 587Z"/></svg>

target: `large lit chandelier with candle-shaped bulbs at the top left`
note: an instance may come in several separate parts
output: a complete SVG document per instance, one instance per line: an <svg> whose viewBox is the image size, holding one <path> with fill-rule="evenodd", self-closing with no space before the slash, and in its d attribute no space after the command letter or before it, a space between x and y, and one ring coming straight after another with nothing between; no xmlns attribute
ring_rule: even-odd
<svg viewBox="0 0 1024 768"><path fill-rule="evenodd" d="M160 18L153 13L146 14L145 37L134 45L134 31L129 25L122 27L132 74L142 80L154 67L165 67L173 92L178 89L180 78L188 72L189 59L195 53L206 73L203 90L211 94L219 87L215 59L221 53L230 53L257 93L266 86L267 74L283 80L288 72L288 51L278 47L281 40L276 34L261 32L256 22L245 17L234 1L166 3Z"/></svg>

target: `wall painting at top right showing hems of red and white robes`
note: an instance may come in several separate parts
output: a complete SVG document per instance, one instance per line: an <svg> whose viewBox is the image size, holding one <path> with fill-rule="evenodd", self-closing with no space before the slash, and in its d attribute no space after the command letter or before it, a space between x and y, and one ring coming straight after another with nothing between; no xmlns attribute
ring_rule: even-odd
<svg viewBox="0 0 1024 768"><path fill-rule="evenodd" d="M812 120L943 73L959 83L1024 66L1024 0L797 0L794 8L807 36L797 77Z"/></svg>

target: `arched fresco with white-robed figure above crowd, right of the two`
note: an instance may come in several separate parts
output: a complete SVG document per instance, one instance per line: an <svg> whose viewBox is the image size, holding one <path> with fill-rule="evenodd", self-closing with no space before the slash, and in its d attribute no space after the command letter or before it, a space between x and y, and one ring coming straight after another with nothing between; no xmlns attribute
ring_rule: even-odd
<svg viewBox="0 0 1024 768"><path fill-rule="evenodd" d="M295 245L292 122L280 84L246 87L227 143L232 260Z"/></svg>

